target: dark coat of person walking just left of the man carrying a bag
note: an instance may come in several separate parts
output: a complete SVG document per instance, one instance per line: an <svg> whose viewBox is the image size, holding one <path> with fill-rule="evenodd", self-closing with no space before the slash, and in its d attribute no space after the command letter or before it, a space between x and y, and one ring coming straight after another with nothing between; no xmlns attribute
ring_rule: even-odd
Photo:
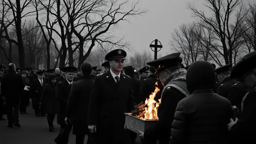
<svg viewBox="0 0 256 144"><path fill-rule="evenodd" d="M57 114L57 97L55 94L56 86L52 83L47 83L43 87L42 95L41 95L41 104L44 105L44 113L45 114Z"/></svg>

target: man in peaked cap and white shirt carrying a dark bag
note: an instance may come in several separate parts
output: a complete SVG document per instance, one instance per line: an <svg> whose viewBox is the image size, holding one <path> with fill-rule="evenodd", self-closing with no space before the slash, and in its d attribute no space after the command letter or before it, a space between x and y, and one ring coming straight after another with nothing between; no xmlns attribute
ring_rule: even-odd
<svg viewBox="0 0 256 144"><path fill-rule="evenodd" d="M66 108L67 108L67 100L69 98L69 93L74 83L73 79L75 76L76 68L73 66L69 66L64 68L66 79L64 81L59 82L56 85L56 96L58 99L58 115L57 115L57 123L61 125L61 129L71 130L72 125L66 124ZM67 144L69 142L69 133L65 136L66 139L63 144Z"/></svg>

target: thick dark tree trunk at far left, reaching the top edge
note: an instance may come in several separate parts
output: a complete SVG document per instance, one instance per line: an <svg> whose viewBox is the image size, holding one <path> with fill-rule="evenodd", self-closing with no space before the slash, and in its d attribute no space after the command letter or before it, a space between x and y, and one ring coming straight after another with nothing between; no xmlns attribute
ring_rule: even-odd
<svg viewBox="0 0 256 144"><path fill-rule="evenodd" d="M17 32L17 41L18 41L18 51L19 51L19 65L20 71L25 70L25 55L24 55L24 46L22 41L22 32L21 32L21 8L20 8L20 0L16 0L17 6L17 15L16 15L16 32Z"/></svg>

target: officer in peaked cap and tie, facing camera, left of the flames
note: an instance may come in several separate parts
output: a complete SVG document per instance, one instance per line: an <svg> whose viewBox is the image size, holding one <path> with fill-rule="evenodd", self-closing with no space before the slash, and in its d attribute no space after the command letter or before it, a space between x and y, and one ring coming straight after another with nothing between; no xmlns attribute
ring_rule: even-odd
<svg viewBox="0 0 256 144"><path fill-rule="evenodd" d="M126 52L115 49L105 59L111 69L94 79L88 111L88 129L96 132L97 144L123 144L128 141L124 129L125 115L136 105L133 82L121 74Z"/></svg>

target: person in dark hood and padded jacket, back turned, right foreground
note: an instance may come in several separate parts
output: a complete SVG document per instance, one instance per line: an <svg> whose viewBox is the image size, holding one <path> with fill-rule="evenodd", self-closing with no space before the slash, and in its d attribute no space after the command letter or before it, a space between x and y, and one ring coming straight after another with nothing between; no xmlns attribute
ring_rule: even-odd
<svg viewBox="0 0 256 144"><path fill-rule="evenodd" d="M207 61L189 66L186 75L191 95L178 102L169 144L227 144L232 106L213 92L215 72Z"/></svg>

